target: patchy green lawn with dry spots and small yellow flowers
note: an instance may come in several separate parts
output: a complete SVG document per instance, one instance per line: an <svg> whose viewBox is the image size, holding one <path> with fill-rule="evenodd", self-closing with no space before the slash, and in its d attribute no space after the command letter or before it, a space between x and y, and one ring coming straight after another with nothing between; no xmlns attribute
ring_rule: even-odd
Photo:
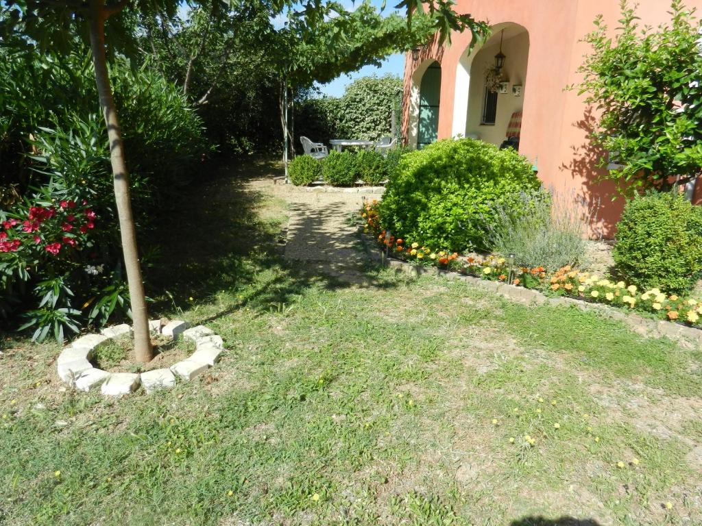
<svg viewBox="0 0 702 526"><path fill-rule="evenodd" d="M268 168L220 170L161 231L152 312L229 349L204 377L107 400L59 390L55 344L1 342L0 523L702 523L701 351L441 278L305 274L285 203L243 189Z"/></svg>

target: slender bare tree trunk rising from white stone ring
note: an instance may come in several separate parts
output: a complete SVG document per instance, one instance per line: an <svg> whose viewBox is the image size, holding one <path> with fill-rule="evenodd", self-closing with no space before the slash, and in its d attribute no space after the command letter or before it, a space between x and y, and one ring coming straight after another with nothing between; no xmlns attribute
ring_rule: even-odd
<svg viewBox="0 0 702 526"><path fill-rule="evenodd" d="M98 86L100 106L105 116L107 138L110 140L114 201L117 203L119 233L121 234L124 268L127 274L132 319L134 322L134 352L138 362L146 363L153 358L153 349L149 336L149 317L146 310L144 283L136 246L136 229L129 196L129 174L124 161L124 144L122 142L121 129L119 128L119 120L117 119L117 108L114 106L114 99L112 98L110 77L107 75L105 20L107 20L109 13L105 9L102 0L91 0L90 11L90 43L95 65L95 83Z"/></svg>

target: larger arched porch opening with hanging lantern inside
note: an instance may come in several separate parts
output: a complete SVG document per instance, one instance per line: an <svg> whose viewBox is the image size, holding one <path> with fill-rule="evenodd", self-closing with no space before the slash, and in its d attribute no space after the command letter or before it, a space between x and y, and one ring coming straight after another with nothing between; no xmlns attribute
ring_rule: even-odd
<svg viewBox="0 0 702 526"><path fill-rule="evenodd" d="M465 51L456 71L453 135L519 148L529 64L529 32L505 22L491 27L484 43ZM496 70L496 55L504 64Z"/></svg>

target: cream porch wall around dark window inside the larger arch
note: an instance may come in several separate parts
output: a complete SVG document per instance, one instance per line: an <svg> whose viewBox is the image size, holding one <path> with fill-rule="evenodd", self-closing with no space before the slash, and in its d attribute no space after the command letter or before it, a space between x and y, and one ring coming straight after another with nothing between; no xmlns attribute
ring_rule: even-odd
<svg viewBox="0 0 702 526"><path fill-rule="evenodd" d="M524 104L527 61L529 59L529 35L527 32L522 32L503 42L502 52L507 57L503 68L503 79L508 81L508 93L498 94L495 124L488 126L481 124L485 96L485 74L488 67L494 66L495 55L500 50L498 35L495 35L493 40L496 40L496 43L479 50L472 62L465 135L475 134L485 142L499 145L506 138L512 113L522 109ZM512 95L512 86L515 84L522 84L520 97Z"/></svg>

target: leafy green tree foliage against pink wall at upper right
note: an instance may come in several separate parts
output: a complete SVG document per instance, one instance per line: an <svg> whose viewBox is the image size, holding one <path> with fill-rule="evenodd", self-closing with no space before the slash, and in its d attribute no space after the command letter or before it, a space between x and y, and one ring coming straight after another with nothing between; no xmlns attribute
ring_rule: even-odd
<svg viewBox="0 0 702 526"><path fill-rule="evenodd" d="M665 189L702 166L702 49L694 10L673 0L670 22L641 27L621 1L612 38L600 16L585 37L592 53L579 69L580 93L600 112L592 137L607 151L602 166L621 165L609 179L625 191Z"/></svg>

